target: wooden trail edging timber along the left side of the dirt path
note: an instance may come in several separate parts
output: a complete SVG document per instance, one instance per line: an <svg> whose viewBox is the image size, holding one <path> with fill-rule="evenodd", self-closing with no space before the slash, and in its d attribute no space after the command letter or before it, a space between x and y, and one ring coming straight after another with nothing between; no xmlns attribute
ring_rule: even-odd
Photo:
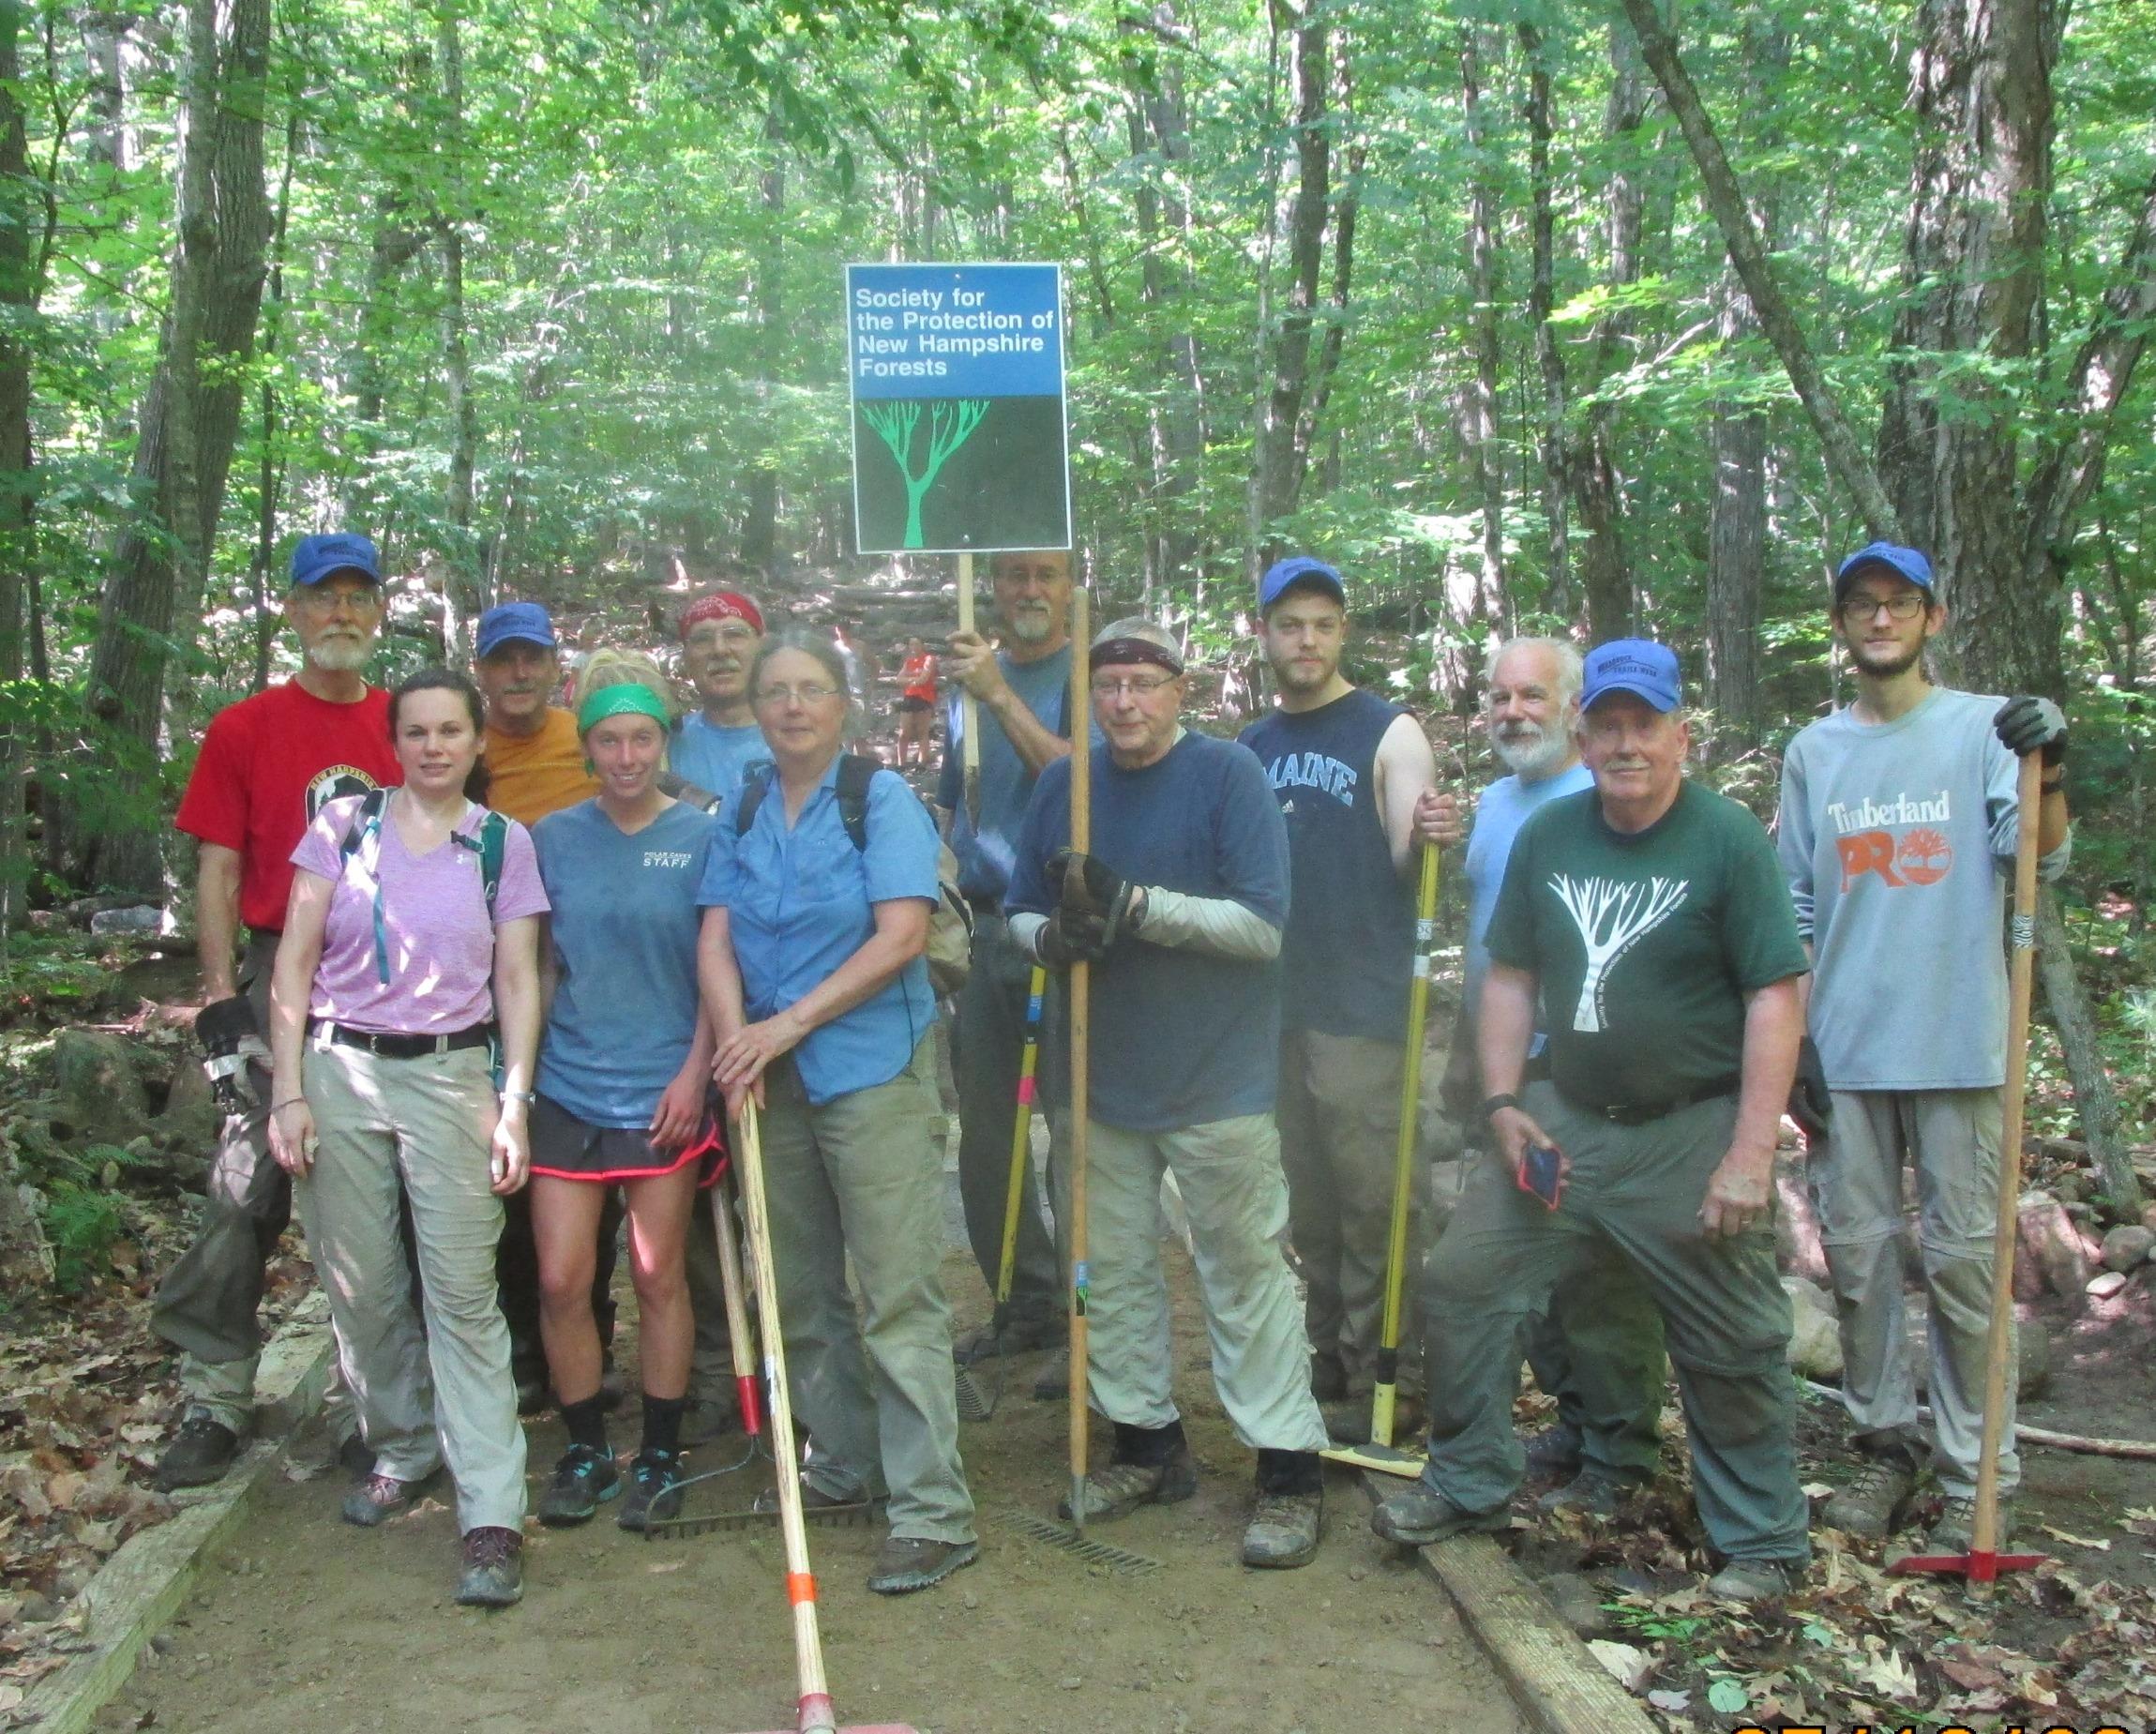
<svg viewBox="0 0 2156 1734"><path fill-rule="evenodd" d="M211 1551L246 1520L257 1486L278 1471L291 1430L321 1406L330 1352L330 1313L315 1292L263 1350L254 1372L254 1443L224 1480L181 1495L177 1516L129 1536L82 1592L88 1648L39 1680L17 1706L39 1734L84 1734L127 1684L142 1646L179 1611Z"/></svg>

